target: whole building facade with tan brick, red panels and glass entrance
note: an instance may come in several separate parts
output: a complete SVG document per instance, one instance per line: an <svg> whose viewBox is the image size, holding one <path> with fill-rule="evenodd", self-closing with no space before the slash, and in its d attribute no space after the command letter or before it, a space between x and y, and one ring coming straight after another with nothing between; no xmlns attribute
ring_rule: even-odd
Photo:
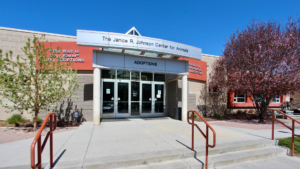
<svg viewBox="0 0 300 169"><path fill-rule="evenodd" d="M63 62L73 61L72 68L78 71L80 88L74 95L79 99L49 105L59 120L72 120L75 113L80 120L95 125L101 118L175 117L177 107L186 120L187 110L212 116L228 109L253 107L245 96L243 100L242 96L218 95L208 89L208 75L218 56L202 54L202 49L185 44L141 36L134 27L125 34L77 30L77 36L0 27L0 49L24 57L21 48L28 38L42 34L48 41L45 46L61 48L49 52L56 52L56 59ZM285 100L280 97L271 106L279 107ZM1 107L0 120L11 116L4 111ZM46 113L39 116L43 118ZM23 116L32 118L29 112L23 112Z"/></svg>

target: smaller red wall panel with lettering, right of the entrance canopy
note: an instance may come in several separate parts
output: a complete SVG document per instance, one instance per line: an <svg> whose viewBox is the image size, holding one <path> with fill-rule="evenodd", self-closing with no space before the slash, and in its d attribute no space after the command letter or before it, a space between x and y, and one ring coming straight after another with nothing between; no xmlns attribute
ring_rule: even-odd
<svg viewBox="0 0 300 169"><path fill-rule="evenodd" d="M189 61L189 79L206 81L206 62L180 57L178 60Z"/></svg>

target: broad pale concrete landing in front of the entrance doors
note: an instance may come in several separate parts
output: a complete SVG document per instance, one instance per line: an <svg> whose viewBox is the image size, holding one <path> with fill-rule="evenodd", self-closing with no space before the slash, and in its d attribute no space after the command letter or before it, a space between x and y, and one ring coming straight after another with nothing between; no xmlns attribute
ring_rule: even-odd
<svg viewBox="0 0 300 169"><path fill-rule="evenodd" d="M202 122L197 122L205 130ZM271 136L262 130L236 129L213 126L217 145L254 141ZM298 131L297 131L298 132ZM290 137L288 133L281 136ZM276 134L275 134L276 135ZM212 141L212 133L209 133ZM0 168L28 168L32 139L0 144ZM211 143L212 144L212 143ZM54 168L82 168L94 161L124 159L132 155L143 156L186 150L191 146L191 126L187 122L170 118L107 119L100 126L83 123L78 129L54 134ZM205 146L205 139L195 130L195 146ZM43 152L43 166L49 163L49 146ZM48 168L49 166L46 166Z"/></svg>

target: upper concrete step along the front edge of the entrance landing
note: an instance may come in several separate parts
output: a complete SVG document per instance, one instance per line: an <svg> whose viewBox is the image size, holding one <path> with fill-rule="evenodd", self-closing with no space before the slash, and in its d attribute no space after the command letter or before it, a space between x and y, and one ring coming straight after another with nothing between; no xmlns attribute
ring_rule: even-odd
<svg viewBox="0 0 300 169"><path fill-rule="evenodd" d="M215 148L209 148L209 157L212 157L212 155L222 155L227 153L230 154L234 152L238 153L238 152L243 152L245 150L257 150L266 147L273 148L275 147L274 145L275 145L274 141L266 140L266 139L221 144L221 145L217 145ZM195 147L195 151L191 151L188 148L180 148L180 149L173 149L173 150L154 151L154 152L119 155L119 156L86 158L83 161L82 167L83 168L107 168L107 169L132 167L132 166L142 167L147 165L150 165L151 167L155 163L158 164L162 162L172 163L172 161L175 162L176 160L181 161L184 159L189 159L191 161L191 159L194 159L195 156L197 158L202 159L205 156L205 147ZM202 159L201 161L205 161L205 159L204 160ZM199 162L200 160L196 164L199 165ZM182 163L182 162L178 162L178 163ZM78 161L59 161L56 164L55 168L73 168L75 166L78 166Z"/></svg>

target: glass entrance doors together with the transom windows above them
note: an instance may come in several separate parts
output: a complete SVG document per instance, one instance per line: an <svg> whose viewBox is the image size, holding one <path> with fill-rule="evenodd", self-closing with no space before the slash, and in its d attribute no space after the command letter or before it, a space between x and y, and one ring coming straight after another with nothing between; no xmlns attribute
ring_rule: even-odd
<svg viewBox="0 0 300 169"><path fill-rule="evenodd" d="M156 73L102 70L101 117L163 116L164 77Z"/></svg>

